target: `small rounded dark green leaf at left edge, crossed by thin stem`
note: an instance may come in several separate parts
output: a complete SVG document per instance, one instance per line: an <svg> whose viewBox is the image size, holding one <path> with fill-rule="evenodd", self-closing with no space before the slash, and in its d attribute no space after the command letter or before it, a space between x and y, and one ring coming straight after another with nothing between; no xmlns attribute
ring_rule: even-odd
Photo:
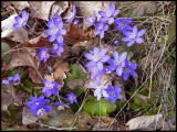
<svg viewBox="0 0 177 132"><path fill-rule="evenodd" d="M9 52L9 51L10 51L10 46L9 46L7 43L2 42L2 43L1 43L1 54L7 53L7 52ZM1 55L1 58L2 58L6 63L10 63L11 59L12 59L12 53L9 52L9 53L7 53L7 54L4 54L4 55Z"/></svg>

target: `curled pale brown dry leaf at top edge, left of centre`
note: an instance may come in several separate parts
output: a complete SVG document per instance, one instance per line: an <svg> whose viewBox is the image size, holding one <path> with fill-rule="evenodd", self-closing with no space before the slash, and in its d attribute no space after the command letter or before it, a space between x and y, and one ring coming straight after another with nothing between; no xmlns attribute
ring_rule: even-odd
<svg viewBox="0 0 177 132"><path fill-rule="evenodd" d="M55 16L55 13L61 15L62 13L64 13L66 11L67 8L69 8L69 1L56 1L52 6L51 16L50 18Z"/></svg>

